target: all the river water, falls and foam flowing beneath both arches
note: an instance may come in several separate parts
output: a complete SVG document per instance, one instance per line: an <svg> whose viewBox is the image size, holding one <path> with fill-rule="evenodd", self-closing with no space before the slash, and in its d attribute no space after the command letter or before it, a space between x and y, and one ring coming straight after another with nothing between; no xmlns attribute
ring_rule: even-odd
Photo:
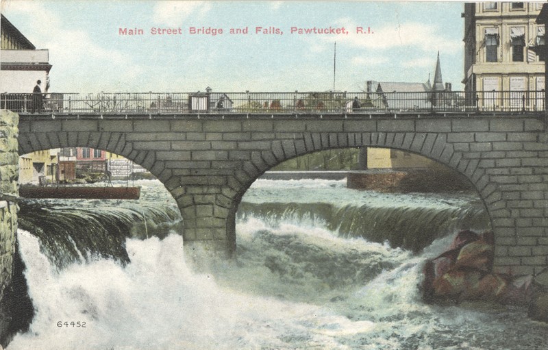
<svg viewBox="0 0 548 350"><path fill-rule="evenodd" d="M197 273L173 199L138 186L139 203L22 210L36 312L8 349L548 349L547 325L521 308L421 301L425 259L459 229L488 229L474 195L260 179L238 210L236 260Z"/></svg>

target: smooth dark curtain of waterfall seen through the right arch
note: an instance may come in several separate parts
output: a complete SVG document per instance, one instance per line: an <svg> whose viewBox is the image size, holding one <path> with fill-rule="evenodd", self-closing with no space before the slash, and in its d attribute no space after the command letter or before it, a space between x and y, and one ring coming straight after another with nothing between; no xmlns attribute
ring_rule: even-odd
<svg viewBox="0 0 548 350"><path fill-rule="evenodd" d="M464 208L410 206L372 207L333 203L246 203L238 208L238 219L260 218L271 225L284 221L308 223L371 242L388 241L392 247L420 251L436 238L460 229L488 229L489 218L477 205Z"/></svg>

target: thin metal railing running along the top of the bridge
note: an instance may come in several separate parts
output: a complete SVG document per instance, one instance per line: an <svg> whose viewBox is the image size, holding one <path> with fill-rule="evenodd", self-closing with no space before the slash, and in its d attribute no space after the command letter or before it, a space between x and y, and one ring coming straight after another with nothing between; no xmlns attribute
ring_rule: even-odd
<svg viewBox="0 0 548 350"><path fill-rule="evenodd" d="M545 92L51 92L4 93L0 103L23 114L538 112Z"/></svg>

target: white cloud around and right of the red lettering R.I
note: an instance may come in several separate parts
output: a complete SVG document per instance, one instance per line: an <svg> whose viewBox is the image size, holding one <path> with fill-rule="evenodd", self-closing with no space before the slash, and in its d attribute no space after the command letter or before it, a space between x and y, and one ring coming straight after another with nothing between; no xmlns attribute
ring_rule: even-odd
<svg viewBox="0 0 548 350"><path fill-rule="evenodd" d="M372 34L358 34L352 18L339 18L335 21L338 27L345 27L349 34L322 36L321 40L345 42L351 47L364 49L397 49L411 47L426 52L443 51L453 53L462 49L460 39L449 39L440 35L440 29L425 23L398 23L383 27L371 27ZM368 27L364 27L364 32Z"/></svg>

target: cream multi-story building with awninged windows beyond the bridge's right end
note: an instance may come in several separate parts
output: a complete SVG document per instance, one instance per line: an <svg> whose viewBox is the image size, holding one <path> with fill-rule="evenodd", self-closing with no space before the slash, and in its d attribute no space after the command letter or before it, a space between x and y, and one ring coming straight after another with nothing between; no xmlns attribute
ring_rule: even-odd
<svg viewBox="0 0 548 350"><path fill-rule="evenodd" d="M464 80L482 110L544 109L543 3L481 1L464 5ZM481 96L480 96L481 95ZM523 99L525 97L525 99ZM526 105L523 105L525 103Z"/></svg>

